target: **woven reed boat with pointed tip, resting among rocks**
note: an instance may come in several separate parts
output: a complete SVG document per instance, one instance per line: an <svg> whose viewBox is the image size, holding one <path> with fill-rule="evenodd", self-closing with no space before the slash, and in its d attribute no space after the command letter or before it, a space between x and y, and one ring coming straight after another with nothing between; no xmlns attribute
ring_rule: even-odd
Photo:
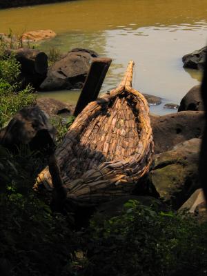
<svg viewBox="0 0 207 276"><path fill-rule="evenodd" d="M130 61L118 88L91 103L75 119L56 150L67 197L97 204L131 193L152 162L153 140L148 103L132 88ZM49 190L48 167L38 176Z"/></svg>

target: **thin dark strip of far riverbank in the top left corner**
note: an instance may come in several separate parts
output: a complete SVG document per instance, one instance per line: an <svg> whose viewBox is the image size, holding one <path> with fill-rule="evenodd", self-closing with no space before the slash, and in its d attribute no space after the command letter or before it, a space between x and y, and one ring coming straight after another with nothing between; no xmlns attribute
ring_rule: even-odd
<svg viewBox="0 0 207 276"><path fill-rule="evenodd" d="M0 0L0 8L15 8L15 7L23 7L23 6L34 6L48 3L59 3L66 1L75 1L75 0Z"/></svg>

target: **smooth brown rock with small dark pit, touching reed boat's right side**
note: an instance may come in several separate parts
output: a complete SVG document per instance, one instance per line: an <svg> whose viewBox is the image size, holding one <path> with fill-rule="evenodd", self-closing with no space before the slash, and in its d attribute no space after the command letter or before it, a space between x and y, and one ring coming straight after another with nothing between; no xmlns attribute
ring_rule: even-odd
<svg viewBox="0 0 207 276"><path fill-rule="evenodd" d="M155 153L171 150L180 142L201 137L205 118L202 111L182 111L164 116L150 115Z"/></svg>

